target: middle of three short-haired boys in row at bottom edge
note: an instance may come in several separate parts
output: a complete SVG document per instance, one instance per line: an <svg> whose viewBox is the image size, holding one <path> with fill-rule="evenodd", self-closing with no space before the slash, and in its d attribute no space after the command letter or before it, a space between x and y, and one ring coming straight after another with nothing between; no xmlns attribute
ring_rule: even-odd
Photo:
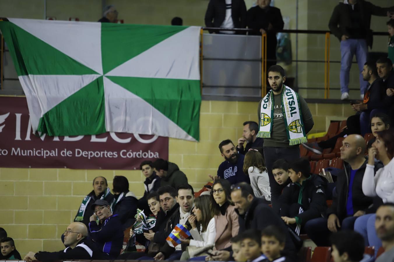
<svg viewBox="0 0 394 262"><path fill-rule="evenodd" d="M261 254L261 237L260 231L256 229L248 229L240 236L241 253L248 262L259 262L266 259Z"/></svg>

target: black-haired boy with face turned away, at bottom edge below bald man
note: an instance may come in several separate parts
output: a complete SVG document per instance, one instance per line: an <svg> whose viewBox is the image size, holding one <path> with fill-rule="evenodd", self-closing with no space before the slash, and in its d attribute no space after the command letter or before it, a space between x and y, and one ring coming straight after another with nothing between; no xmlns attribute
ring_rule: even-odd
<svg viewBox="0 0 394 262"><path fill-rule="evenodd" d="M360 261L364 257L364 238L353 230L339 231L331 235L331 248L334 262Z"/></svg>

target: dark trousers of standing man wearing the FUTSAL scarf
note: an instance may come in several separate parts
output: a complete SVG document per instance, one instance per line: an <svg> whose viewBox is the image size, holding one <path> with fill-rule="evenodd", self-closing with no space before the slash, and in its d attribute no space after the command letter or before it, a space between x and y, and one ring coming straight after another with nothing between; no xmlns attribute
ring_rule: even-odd
<svg viewBox="0 0 394 262"><path fill-rule="evenodd" d="M266 168L269 178L269 186L271 187L271 204L274 211L278 214L278 198L282 194L283 187L275 181L275 178L272 175L272 165L273 162L277 161L278 159L286 159L286 161L289 163L299 159L299 146L294 146L291 148L274 148L264 146L263 148L264 159L266 161Z"/></svg>

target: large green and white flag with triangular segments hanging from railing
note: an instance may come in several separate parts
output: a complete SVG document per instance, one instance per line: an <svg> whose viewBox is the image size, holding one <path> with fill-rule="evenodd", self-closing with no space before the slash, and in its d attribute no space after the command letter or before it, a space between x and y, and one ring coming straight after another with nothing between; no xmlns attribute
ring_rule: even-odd
<svg viewBox="0 0 394 262"><path fill-rule="evenodd" d="M200 28L9 18L33 131L199 140Z"/></svg>

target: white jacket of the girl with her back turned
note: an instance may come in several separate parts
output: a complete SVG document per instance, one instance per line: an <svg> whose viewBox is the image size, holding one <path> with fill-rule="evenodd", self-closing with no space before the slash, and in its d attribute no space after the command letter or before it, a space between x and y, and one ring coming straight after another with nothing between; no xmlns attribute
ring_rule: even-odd
<svg viewBox="0 0 394 262"><path fill-rule="evenodd" d="M260 173L261 170L255 166L250 166L247 171L255 197L264 197L267 201L271 201L271 188L269 187L267 171Z"/></svg>

